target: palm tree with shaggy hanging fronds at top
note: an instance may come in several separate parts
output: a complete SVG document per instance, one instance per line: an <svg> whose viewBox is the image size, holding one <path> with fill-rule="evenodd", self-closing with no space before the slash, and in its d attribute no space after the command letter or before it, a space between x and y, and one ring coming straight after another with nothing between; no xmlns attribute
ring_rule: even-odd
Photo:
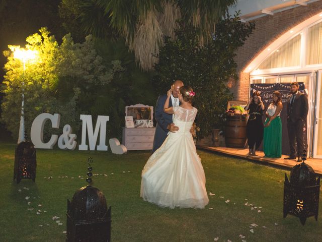
<svg viewBox="0 0 322 242"><path fill-rule="evenodd" d="M143 70L151 70L157 63L159 47L165 36L176 38L178 20L199 29L199 42L211 39L215 24L236 0L63 0L78 2L78 20L87 33L102 37L112 28L125 38L129 50ZM93 9L100 14L95 18ZM99 20L97 18L100 18ZM102 19L106 24L100 26ZM104 36L103 36L104 37ZM152 55L156 54L156 55Z"/></svg>

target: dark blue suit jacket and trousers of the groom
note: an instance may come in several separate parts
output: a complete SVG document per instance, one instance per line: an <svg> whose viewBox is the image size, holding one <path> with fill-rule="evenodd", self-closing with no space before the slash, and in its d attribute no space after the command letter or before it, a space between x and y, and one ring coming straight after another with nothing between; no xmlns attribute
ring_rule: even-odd
<svg viewBox="0 0 322 242"><path fill-rule="evenodd" d="M156 151L166 140L169 130L168 125L172 124L172 114L164 112L164 105L167 95L160 95L155 104L154 118L156 120L152 153ZM172 107L172 99L170 98L169 107Z"/></svg>

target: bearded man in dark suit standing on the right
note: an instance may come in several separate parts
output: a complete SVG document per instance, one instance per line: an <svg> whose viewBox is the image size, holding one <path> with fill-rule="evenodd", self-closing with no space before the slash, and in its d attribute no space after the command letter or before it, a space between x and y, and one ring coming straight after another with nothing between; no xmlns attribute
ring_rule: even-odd
<svg viewBox="0 0 322 242"><path fill-rule="evenodd" d="M285 159L302 161L303 151L307 151L306 116L308 112L307 96L298 91L298 83L290 85L291 95L287 98L287 130L290 143L290 156ZM306 153L304 154L306 156Z"/></svg>

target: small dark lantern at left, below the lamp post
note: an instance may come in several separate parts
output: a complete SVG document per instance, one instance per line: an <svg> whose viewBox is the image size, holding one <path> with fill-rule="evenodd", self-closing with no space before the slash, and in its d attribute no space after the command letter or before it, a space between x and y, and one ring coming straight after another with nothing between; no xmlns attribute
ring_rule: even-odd
<svg viewBox="0 0 322 242"><path fill-rule="evenodd" d="M16 147L14 179L20 183L22 178L35 181L36 178L36 149L30 141L22 141Z"/></svg>

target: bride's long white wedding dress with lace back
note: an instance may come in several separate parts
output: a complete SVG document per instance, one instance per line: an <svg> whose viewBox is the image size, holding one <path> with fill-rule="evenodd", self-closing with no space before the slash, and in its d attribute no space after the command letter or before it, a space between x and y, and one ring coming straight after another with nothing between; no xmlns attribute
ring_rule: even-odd
<svg viewBox="0 0 322 242"><path fill-rule="evenodd" d="M205 173L190 133L197 111L174 107L173 123L179 131L170 133L146 162L140 193L144 201L169 208L208 204Z"/></svg>

